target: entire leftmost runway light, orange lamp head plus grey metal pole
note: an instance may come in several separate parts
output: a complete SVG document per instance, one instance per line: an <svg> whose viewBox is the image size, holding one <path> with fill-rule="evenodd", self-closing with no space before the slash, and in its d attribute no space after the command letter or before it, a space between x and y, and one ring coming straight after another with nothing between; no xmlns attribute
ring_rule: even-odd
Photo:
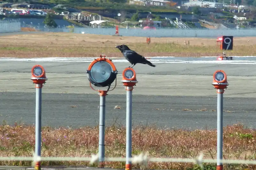
<svg viewBox="0 0 256 170"><path fill-rule="evenodd" d="M36 128L35 128L35 154L41 156L41 127L42 127L42 87L47 80L44 68L41 65L35 65L31 70L31 80L36 88ZM35 162L35 170L41 169L41 162Z"/></svg>

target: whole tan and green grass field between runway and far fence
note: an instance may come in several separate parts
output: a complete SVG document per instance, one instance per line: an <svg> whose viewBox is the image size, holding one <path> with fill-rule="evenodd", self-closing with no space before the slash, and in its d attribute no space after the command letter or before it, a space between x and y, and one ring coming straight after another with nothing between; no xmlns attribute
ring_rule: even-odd
<svg viewBox="0 0 256 170"><path fill-rule="evenodd" d="M25 30L24 30L25 31ZM33 30L29 30L33 31ZM219 56L222 51L216 38L151 38L75 33L33 33L0 36L0 57L122 57L116 45L126 44L145 57L151 56ZM249 40L249 42L248 42ZM186 44L185 42L186 41ZM189 45L188 45L189 41ZM227 56L256 54L256 38L234 37L234 50Z"/></svg>

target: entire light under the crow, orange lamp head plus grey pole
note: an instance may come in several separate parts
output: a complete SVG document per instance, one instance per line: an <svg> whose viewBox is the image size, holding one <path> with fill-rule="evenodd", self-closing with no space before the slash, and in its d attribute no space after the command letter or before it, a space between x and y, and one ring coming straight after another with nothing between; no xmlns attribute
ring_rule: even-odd
<svg viewBox="0 0 256 170"><path fill-rule="evenodd" d="M132 90L133 86L138 83L135 70L128 67L123 71L121 81L126 90L126 161L125 170L132 169Z"/></svg>

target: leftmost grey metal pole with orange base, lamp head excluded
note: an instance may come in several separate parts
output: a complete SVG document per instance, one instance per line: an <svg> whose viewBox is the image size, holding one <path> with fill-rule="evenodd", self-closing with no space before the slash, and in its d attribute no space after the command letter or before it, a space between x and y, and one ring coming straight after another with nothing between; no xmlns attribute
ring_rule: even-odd
<svg viewBox="0 0 256 170"><path fill-rule="evenodd" d="M36 156L41 156L41 110L42 110L42 86L41 84L36 84L36 139L35 139L35 154ZM36 162L35 169L41 169L41 162Z"/></svg>

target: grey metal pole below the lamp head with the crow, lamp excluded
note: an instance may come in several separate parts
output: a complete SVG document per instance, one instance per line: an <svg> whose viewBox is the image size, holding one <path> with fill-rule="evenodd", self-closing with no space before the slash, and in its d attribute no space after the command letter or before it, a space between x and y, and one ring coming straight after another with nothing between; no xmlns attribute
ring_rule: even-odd
<svg viewBox="0 0 256 170"><path fill-rule="evenodd" d="M125 170L132 169L132 87L126 87L126 162Z"/></svg>

